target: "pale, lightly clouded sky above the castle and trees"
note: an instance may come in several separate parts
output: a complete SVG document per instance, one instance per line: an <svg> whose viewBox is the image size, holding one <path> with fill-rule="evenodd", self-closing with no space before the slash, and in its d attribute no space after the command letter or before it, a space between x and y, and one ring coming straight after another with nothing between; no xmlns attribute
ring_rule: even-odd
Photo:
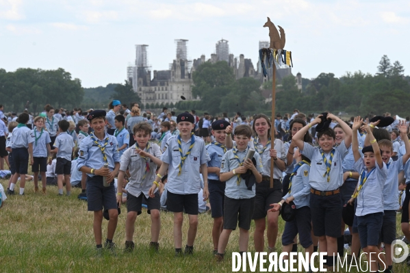
<svg viewBox="0 0 410 273"><path fill-rule="evenodd" d="M0 68L64 68L85 88L120 83L148 44L151 70L166 70L175 39L188 59L215 51L221 38L257 66L269 40L267 16L285 29L294 75L374 74L382 55L410 70L408 0L0 0Z"/></svg>

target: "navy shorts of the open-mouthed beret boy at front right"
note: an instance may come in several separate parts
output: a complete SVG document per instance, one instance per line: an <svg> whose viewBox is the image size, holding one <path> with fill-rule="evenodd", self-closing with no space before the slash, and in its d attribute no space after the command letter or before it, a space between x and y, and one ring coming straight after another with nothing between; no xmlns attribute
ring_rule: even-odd
<svg viewBox="0 0 410 273"><path fill-rule="evenodd" d="M359 229L359 239L361 248L367 246L377 246L381 226L383 224L383 212L370 213L365 216L357 216L357 228Z"/></svg>

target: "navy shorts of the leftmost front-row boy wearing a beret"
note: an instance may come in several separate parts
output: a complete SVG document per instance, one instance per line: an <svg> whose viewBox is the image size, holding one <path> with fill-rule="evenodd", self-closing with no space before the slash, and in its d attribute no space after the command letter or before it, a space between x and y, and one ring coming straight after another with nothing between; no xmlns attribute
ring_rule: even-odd
<svg viewBox="0 0 410 273"><path fill-rule="evenodd" d="M87 176L87 203L88 211L101 211L103 209L117 209L117 198L114 183L104 187L103 177Z"/></svg>

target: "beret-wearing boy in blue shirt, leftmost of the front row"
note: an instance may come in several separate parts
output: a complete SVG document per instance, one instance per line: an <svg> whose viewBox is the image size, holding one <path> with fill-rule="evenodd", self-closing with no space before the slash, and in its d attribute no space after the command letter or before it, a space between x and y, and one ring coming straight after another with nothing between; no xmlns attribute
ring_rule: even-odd
<svg viewBox="0 0 410 273"><path fill-rule="evenodd" d="M86 172L87 177L87 203L88 211L94 211L94 239L97 251L101 251L103 231L103 209L108 209L110 220L108 221L107 240L105 247L114 249L112 242L118 221L118 205L116 204L116 193L114 188L114 177L120 168L118 157L117 140L114 135L105 133L104 110L94 110L88 114L87 119L91 123L94 132L81 141L79 146L79 158L77 169ZM108 164L108 168L104 168ZM103 177L109 184L103 186Z"/></svg>

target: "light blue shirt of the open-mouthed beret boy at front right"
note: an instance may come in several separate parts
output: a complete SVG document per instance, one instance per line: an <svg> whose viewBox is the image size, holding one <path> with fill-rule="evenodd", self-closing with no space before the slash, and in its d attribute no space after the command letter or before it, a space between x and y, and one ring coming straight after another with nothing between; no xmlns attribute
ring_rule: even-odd
<svg viewBox="0 0 410 273"><path fill-rule="evenodd" d="M364 165L363 157L355 163L355 169L359 174L361 170L365 168L365 177L368 174L366 167ZM366 216L370 213L383 212L383 185L387 179L387 166L383 162L383 168L379 168L379 165L376 163L376 170L374 170L366 183L364 183L359 195L357 196L357 208L356 216ZM359 185L360 181L357 183ZM397 192L398 184L396 184ZM398 199L396 199L396 203Z"/></svg>

